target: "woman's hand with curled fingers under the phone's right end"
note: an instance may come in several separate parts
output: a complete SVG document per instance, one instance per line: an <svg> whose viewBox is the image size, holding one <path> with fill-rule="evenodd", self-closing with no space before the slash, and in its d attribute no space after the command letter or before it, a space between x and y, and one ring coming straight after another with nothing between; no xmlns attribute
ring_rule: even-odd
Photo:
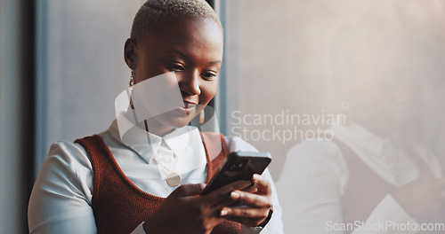
<svg viewBox="0 0 445 234"><path fill-rule="evenodd" d="M265 224L271 212L271 183L261 175L252 177L255 183L253 189L248 191L232 191L231 199L241 201L241 207L223 207L221 215L228 220L240 222L248 227Z"/></svg>

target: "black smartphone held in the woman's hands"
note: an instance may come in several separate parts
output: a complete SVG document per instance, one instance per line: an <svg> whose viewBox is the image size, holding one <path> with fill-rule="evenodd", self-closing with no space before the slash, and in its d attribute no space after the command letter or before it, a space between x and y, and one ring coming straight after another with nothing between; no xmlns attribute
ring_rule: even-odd
<svg viewBox="0 0 445 234"><path fill-rule="evenodd" d="M201 195L239 180L250 181L254 174L261 175L270 163L269 152L232 152L223 160Z"/></svg>

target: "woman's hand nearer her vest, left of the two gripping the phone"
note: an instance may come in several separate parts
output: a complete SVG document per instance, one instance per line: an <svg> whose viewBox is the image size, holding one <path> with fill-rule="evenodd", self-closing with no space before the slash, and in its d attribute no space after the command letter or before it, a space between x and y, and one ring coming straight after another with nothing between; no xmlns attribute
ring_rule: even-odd
<svg viewBox="0 0 445 234"><path fill-rule="evenodd" d="M173 191L158 210L143 223L146 233L210 233L223 222L221 209L231 202L231 191L247 188L249 181L230 183L205 196L196 197L205 187L202 183L184 184Z"/></svg>

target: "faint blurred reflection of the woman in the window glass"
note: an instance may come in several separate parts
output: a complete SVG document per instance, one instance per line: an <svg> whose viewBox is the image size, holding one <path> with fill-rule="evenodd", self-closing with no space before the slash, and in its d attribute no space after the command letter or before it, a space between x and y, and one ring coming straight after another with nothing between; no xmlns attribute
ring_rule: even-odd
<svg viewBox="0 0 445 234"><path fill-rule="evenodd" d="M425 134L441 121L428 106L442 49L410 22L371 15L336 31L333 89L348 121L330 128L333 141L287 153L277 183L287 233L444 233L441 155Z"/></svg>

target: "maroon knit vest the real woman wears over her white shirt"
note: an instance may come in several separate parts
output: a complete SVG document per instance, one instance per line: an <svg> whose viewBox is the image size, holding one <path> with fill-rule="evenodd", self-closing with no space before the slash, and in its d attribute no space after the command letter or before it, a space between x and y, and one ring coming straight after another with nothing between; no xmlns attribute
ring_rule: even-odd
<svg viewBox="0 0 445 234"><path fill-rule="evenodd" d="M227 157L228 149L223 135L207 132L201 136L206 150L208 183ZM165 200L134 185L118 167L100 136L87 136L75 142L85 148L93 166L92 207L98 233L130 233ZM215 226L212 233L241 233L241 224L225 221Z"/></svg>

